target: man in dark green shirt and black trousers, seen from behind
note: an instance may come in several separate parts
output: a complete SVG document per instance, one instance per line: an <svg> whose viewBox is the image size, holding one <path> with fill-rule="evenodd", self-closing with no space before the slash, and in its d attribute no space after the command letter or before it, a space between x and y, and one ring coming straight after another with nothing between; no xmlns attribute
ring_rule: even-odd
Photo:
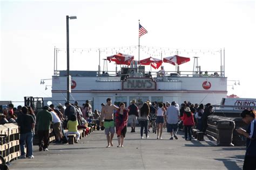
<svg viewBox="0 0 256 170"><path fill-rule="evenodd" d="M38 145L39 151L48 151L49 136L50 136L50 125L53 121L51 113L48 111L49 107L44 106L42 111L37 114L37 129L38 129ZM44 140L44 144L42 143Z"/></svg>

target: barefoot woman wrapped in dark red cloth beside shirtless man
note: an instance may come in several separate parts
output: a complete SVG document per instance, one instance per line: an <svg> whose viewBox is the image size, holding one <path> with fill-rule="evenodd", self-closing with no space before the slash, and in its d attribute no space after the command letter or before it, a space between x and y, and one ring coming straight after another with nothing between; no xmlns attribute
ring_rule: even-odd
<svg viewBox="0 0 256 170"><path fill-rule="evenodd" d="M120 103L119 109L116 112L116 132L117 132L117 147L124 147L124 138L127 131L128 110L125 109L125 104Z"/></svg>

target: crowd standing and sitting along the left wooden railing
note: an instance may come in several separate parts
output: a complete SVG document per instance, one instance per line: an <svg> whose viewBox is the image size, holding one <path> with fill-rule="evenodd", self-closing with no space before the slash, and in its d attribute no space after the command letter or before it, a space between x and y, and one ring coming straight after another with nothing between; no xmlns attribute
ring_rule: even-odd
<svg viewBox="0 0 256 170"><path fill-rule="evenodd" d="M77 135L75 142L78 143L80 137L78 129L86 129L89 122L93 123L92 120L99 125L99 116L100 111L92 112L89 101L86 101L83 107L80 107L77 101L73 104L67 101L65 105L59 103L56 108L54 104L51 104L49 107L44 106L36 115L30 106L18 105L17 108L14 108L13 104L9 104L7 108L0 111L0 125L6 123L19 125L21 147L19 158L32 159L34 158L33 139L35 139L35 134L38 137L39 151L49 150L51 128L55 135L54 143L67 143L68 134L71 133ZM64 132L64 129L68 131Z"/></svg>

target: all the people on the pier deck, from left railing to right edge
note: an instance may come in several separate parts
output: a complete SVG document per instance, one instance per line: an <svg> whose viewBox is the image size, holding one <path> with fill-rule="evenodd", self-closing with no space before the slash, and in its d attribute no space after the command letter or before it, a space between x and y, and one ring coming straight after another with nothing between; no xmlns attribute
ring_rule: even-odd
<svg viewBox="0 0 256 170"><path fill-rule="evenodd" d="M82 107L78 102L71 104L69 101L65 105L58 104L57 108L51 104L50 107L44 106L41 111L35 115L32 107L22 107L19 105L14 108L9 104L8 108L0 111L0 125L6 123L16 123L20 126L20 147L21 156L19 158L33 157L33 137L38 135L39 151L48 151L50 129L55 134L55 143L66 143L68 134L76 134L76 143L79 141L80 133L78 129L84 129L88 123L95 123L105 130L107 139L107 148L113 146L114 133L117 134L117 147L124 147L124 140L127 132L127 124L130 119L131 133L136 132L137 120L140 125L140 137L149 138L150 125L149 120L153 115L156 116L157 139L163 139L163 128L167 128L170 133L170 140L177 140L178 129L184 129L185 140L191 139L191 128L194 126L202 132L206 132L208 116L213 114L213 106L210 103L192 104L184 101L177 104L175 101L166 102L139 102L133 99L128 107L125 103L118 106L113 105L111 98L106 99L106 104L101 104L102 109L92 112L89 101L86 101ZM115 110L115 111L114 111ZM244 167L254 166L256 158L256 121L255 112L244 110L241 113L242 121L248 124L248 129L237 129L237 132L247 138L247 149ZM36 131L35 131L36 127ZM64 129L68 131L64 133ZM26 151L25 151L26 146Z"/></svg>

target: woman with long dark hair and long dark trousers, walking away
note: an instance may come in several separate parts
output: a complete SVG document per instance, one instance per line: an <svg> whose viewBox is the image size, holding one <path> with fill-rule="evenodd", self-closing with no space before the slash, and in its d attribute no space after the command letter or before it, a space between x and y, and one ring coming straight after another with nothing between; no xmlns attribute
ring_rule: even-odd
<svg viewBox="0 0 256 170"><path fill-rule="evenodd" d="M150 108L149 105L147 103L144 103L142 105L142 108L140 108L140 112L139 112L139 124L140 124L140 138L143 139L143 129L146 133L146 139L149 138L149 136L147 135L148 131L147 131L147 124L149 122L149 113L150 113Z"/></svg>

